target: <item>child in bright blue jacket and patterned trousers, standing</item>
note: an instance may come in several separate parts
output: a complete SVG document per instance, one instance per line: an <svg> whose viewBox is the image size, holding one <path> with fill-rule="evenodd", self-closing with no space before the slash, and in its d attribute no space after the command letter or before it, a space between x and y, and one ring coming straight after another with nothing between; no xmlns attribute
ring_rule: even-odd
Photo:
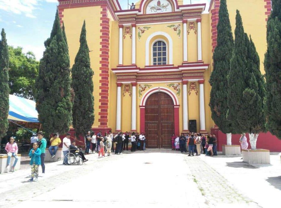
<svg viewBox="0 0 281 208"><path fill-rule="evenodd" d="M29 151L29 157L31 157L31 178L28 181L37 181L38 179L38 168L41 164L41 149L38 148L37 142L33 143L33 148Z"/></svg>

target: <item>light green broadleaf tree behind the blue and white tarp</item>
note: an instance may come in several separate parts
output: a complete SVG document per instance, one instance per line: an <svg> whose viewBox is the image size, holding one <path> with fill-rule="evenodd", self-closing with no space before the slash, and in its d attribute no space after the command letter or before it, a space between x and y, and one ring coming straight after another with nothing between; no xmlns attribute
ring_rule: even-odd
<svg viewBox="0 0 281 208"><path fill-rule="evenodd" d="M23 53L21 47L9 46L9 86L11 94L34 100L35 79L39 62L32 52Z"/></svg>

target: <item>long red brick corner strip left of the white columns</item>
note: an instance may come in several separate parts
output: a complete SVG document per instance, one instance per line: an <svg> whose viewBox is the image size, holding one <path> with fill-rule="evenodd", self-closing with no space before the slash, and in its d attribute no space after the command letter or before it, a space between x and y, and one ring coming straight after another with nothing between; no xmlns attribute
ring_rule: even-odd
<svg viewBox="0 0 281 208"><path fill-rule="evenodd" d="M109 18L107 5L101 5L100 23L100 93L99 93L99 127L108 125L108 92L109 92Z"/></svg>

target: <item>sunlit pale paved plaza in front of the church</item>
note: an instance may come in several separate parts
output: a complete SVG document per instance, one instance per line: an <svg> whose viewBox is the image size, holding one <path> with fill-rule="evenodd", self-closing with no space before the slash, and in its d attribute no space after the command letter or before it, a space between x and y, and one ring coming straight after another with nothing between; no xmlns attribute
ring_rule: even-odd
<svg viewBox="0 0 281 208"><path fill-rule="evenodd" d="M241 156L188 157L166 149L86 158L81 166L46 164L38 182L27 182L29 169L1 174L0 206L270 207L281 194L277 154L259 166Z"/></svg>

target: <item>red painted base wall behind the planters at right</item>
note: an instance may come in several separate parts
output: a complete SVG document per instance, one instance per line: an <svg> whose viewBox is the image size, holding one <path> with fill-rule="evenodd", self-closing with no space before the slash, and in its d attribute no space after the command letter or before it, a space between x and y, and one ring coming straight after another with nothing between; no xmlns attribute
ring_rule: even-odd
<svg viewBox="0 0 281 208"><path fill-rule="evenodd" d="M211 129L211 133L215 134L218 140L218 151L222 151L222 145L226 144L226 134L222 133L216 128ZM231 142L233 145L240 145L240 134L232 134ZM249 144L248 149L251 149L249 142L249 134L246 134L247 142ZM270 152L281 152L281 140L276 136L273 136L270 132L260 133L257 140L257 149L269 149Z"/></svg>

